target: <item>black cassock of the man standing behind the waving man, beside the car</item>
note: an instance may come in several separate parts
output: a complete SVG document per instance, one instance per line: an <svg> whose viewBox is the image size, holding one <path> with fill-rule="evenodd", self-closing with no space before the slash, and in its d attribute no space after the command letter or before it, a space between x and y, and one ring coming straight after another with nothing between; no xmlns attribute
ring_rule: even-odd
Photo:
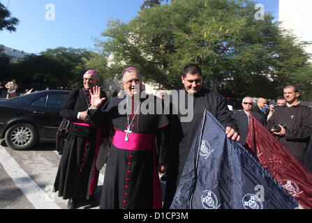
<svg viewBox="0 0 312 223"><path fill-rule="evenodd" d="M106 98L105 92L101 96ZM59 197L63 199L89 199L96 190L98 171L94 163L97 130L77 119L78 112L87 111L89 105L89 92L75 88L61 107L61 116L71 121L54 181L54 192L59 191ZM101 138L107 137L108 131L102 130Z"/></svg>

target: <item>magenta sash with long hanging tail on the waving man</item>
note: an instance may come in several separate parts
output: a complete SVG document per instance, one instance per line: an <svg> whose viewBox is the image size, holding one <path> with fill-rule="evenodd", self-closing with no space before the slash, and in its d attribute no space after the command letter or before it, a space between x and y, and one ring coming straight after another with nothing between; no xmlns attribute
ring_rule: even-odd
<svg viewBox="0 0 312 223"><path fill-rule="evenodd" d="M154 201L153 208L161 209L161 182L159 180L157 165L156 165L156 146L154 134L139 134L130 133L128 141L125 141L126 132L116 130L112 138L112 144L117 148L131 150L131 151L149 151L153 149L153 185L154 185Z"/></svg>

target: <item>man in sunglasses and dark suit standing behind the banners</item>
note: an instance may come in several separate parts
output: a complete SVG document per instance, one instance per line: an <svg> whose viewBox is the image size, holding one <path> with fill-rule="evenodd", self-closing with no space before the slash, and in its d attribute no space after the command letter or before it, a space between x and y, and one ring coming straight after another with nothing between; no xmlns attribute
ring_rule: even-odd
<svg viewBox="0 0 312 223"><path fill-rule="evenodd" d="M253 111L253 99L250 97L246 97L242 100L242 111L235 112L234 118L237 123L237 127L239 129L239 136L241 139L239 142L244 146L246 143L246 137L248 132L248 117L249 114L253 114L255 118L260 121L262 125L265 125L264 116L258 114L258 112Z"/></svg>

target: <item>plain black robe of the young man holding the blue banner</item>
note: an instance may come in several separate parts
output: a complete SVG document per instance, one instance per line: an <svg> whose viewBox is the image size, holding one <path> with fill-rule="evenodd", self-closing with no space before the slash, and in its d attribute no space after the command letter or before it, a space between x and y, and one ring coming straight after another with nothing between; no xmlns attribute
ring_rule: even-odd
<svg viewBox="0 0 312 223"><path fill-rule="evenodd" d="M171 97L170 109L170 125L171 125L171 140L170 150L168 151L168 171L164 208L169 208L179 184L179 177L184 169L184 164L190 152L191 146L195 136L200 128L202 115L207 109L213 114L224 127L231 127L238 132L235 119L232 118L228 110L228 105L225 98L218 93L214 93L209 89L202 88L200 92L193 95L193 119L191 121L183 122L181 118L186 118L187 114L181 114L181 100L185 97L185 105L188 107L187 95L188 93L181 89L178 91L178 98ZM178 103L179 102L179 103ZM178 114L172 114L174 111Z"/></svg>

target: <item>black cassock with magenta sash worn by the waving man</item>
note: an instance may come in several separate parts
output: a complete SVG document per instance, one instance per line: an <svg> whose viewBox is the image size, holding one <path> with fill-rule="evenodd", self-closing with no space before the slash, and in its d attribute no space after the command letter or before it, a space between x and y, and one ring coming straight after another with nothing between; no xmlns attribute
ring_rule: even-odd
<svg viewBox="0 0 312 223"><path fill-rule="evenodd" d="M141 98L139 102L125 95L121 97L112 98L91 115L92 122L101 123L104 119L115 130L107 157L100 208L161 208L161 187L155 165L166 163L168 116L156 114L154 95L147 97L154 100L151 114L142 114L142 108L152 105L148 105L146 99ZM126 98L130 106L128 113L125 113ZM119 105L124 105L124 112L119 111ZM138 106L140 112L135 115ZM131 133L126 141L124 131L128 124L131 124ZM158 146L155 146L156 137L161 141Z"/></svg>

